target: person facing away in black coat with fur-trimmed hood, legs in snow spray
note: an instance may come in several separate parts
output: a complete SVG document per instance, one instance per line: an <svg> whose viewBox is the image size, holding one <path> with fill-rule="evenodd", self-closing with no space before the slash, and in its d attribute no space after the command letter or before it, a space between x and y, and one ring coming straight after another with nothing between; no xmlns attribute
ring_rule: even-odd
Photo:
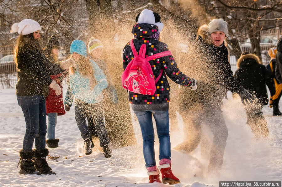
<svg viewBox="0 0 282 187"><path fill-rule="evenodd" d="M238 69L235 72L235 80L249 91L255 98L255 102L245 106L247 112L247 124L257 137L267 137L269 129L263 117L262 108L268 104L266 86L270 95L275 95L275 85L270 72L256 55L243 53L237 61Z"/></svg>

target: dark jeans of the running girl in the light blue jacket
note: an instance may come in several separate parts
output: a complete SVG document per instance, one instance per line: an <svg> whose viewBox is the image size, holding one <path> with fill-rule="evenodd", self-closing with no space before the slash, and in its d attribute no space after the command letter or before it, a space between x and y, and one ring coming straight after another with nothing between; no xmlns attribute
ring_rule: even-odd
<svg viewBox="0 0 282 187"><path fill-rule="evenodd" d="M104 125L103 108L100 103L88 104L86 102L75 100L75 120L77 127L79 128L81 137L85 140L91 137L91 132L86 124L86 117L92 117L94 122L94 128L97 131L100 146L109 144L109 136Z"/></svg>

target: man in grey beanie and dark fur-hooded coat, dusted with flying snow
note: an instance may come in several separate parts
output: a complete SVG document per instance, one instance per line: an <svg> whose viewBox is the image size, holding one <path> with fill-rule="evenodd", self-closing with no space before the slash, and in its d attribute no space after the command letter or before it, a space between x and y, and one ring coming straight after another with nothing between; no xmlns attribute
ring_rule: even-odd
<svg viewBox="0 0 282 187"><path fill-rule="evenodd" d="M213 19L198 30L195 44L194 65L200 69L196 73L199 88L191 92L180 88L177 111L183 117L184 141L176 150L192 152L201 141L202 125L213 134L207 151L210 155L208 173L210 177L220 176L223 155L228 138L228 129L221 107L229 90L238 93L243 104L252 103L252 95L235 81L228 61L228 50L224 44L227 35L227 22ZM206 128L205 127L205 128Z"/></svg>

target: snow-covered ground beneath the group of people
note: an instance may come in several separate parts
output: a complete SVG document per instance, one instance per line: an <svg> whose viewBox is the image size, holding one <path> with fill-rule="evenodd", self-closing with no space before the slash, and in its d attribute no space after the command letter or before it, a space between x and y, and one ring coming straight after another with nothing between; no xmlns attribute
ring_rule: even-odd
<svg viewBox="0 0 282 187"><path fill-rule="evenodd" d="M64 91L64 93L66 93ZM280 106L282 103L280 102ZM224 100L223 112L229 130L221 176L206 174L208 156L197 148L187 155L172 149L173 173L181 180L175 186L219 186L219 181L281 181L282 180L282 117L273 117L272 109L264 106L269 137L254 138L246 125L246 113L240 100ZM172 148L182 142L183 122L179 131L171 132ZM74 119L74 107L58 117L56 138L59 148L49 149L57 160L47 159L56 175L19 175L19 150L25 132L25 122L18 106L15 89L0 90L0 185L1 186L167 186L148 184L142 154L141 134L134 121L137 145L113 149L112 158L105 158L96 140L90 155L83 152L83 141ZM205 128L203 129L205 134ZM158 141L156 139L156 155ZM158 160L158 158L156 159Z"/></svg>

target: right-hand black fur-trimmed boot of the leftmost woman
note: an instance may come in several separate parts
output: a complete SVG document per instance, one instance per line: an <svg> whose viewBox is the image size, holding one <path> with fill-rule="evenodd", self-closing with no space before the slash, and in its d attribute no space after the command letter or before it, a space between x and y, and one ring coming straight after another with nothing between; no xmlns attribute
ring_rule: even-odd
<svg viewBox="0 0 282 187"><path fill-rule="evenodd" d="M46 156L48 156L48 149L34 149L34 166L35 168L40 171L41 174L45 175L52 175L56 174L52 169L49 167Z"/></svg>

